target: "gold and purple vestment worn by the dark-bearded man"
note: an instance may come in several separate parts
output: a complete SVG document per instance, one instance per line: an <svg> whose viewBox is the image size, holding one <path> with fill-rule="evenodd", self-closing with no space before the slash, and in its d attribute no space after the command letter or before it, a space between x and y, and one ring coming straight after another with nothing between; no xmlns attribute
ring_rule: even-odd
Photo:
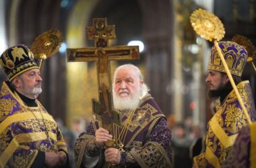
<svg viewBox="0 0 256 168"><path fill-rule="evenodd" d="M255 104L249 81L238 83L237 89L252 121L256 119ZM234 90L217 107L217 112L207 124L206 149L194 157L195 167L220 167L241 129L248 125Z"/></svg>

